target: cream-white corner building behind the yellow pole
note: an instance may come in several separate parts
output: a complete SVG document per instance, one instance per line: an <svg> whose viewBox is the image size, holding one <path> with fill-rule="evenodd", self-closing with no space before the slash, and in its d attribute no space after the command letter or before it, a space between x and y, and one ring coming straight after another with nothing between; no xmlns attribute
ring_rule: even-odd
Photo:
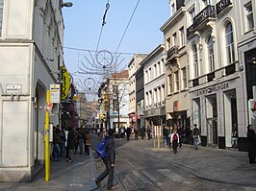
<svg viewBox="0 0 256 191"><path fill-rule="evenodd" d="M44 160L46 90L63 63L61 2L0 0L1 181L29 181Z"/></svg>

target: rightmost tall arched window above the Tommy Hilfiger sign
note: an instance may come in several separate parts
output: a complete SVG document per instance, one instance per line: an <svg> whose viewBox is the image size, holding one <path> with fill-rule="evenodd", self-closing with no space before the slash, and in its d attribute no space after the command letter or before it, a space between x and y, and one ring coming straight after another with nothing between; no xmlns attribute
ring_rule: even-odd
<svg viewBox="0 0 256 191"><path fill-rule="evenodd" d="M227 64L231 64L235 61L235 47L233 29L230 22L225 26L225 43L226 43L226 58Z"/></svg>

